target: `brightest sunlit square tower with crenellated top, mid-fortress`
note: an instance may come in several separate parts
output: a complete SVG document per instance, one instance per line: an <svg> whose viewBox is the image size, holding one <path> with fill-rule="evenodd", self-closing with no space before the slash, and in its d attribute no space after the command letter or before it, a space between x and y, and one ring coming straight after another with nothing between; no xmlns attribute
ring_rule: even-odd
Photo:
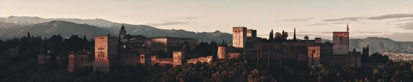
<svg viewBox="0 0 413 82"><path fill-rule="evenodd" d="M233 27L233 46L235 48L245 48L246 27Z"/></svg>

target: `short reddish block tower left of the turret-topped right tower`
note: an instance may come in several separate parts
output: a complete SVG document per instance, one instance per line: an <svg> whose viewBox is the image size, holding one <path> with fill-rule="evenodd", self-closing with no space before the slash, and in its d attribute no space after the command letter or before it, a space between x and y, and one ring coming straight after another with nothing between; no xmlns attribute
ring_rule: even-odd
<svg viewBox="0 0 413 82"><path fill-rule="evenodd" d="M320 46L308 46L308 66L321 64Z"/></svg>

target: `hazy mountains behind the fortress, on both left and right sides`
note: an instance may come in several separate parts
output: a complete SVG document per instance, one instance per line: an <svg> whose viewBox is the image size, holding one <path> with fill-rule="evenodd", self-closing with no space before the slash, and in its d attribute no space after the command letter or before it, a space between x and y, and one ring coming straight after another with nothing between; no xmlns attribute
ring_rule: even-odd
<svg viewBox="0 0 413 82"><path fill-rule="evenodd" d="M9 16L0 18L0 38L19 38L30 32L32 35L50 37L60 34L63 37L71 35L87 36L93 38L98 35L110 33L118 35L121 23L113 23L104 19L78 19L78 18L39 18L29 16ZM143 35L147 37L182 37L195 38L200 41L226 40L232 43L230 33L214 32L193 32L182 29L158 29L149 25L124 24L127 33L132 35ZM293 33L290 33L292 35ZM328 40L326 40L328 41ZM330 41L332 42L332 41ZM361 51L363 47L369 45L370 52L390 52L390 53L413 53L413 42L397 42L389 38L368 37L364 39L350 39L350 49Z"/></svg>

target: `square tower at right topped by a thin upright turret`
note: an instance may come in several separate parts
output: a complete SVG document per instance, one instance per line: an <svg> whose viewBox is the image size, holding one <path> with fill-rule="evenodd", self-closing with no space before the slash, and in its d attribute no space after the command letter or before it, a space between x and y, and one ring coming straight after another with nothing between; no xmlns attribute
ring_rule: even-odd
<svg viewBox="0 0 413 82"><path fill-rule="evenodd" d="M332 32L332 55L348 55L349 38L348 25L347 31Z"/></svg>

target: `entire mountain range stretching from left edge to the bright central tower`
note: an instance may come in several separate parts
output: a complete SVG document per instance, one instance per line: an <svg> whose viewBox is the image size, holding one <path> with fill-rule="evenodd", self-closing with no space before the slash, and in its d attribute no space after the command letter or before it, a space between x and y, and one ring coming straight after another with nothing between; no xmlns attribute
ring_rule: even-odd
<svg viewBox="0 0 413 82"><path fill-rule="evenodd" d="M60 29L29 29L33 26L51 26L53 20L59 22ZM64 22L67 21L67 22ZM113 23L109 20L103 20L99 18L95 19L79 19L79 18L39 18L30 16L9 16L7 18L0 18L0 38L16 38L25 36L26 31L30 31L32 35L39 34L40 36L50 37L50 34L61 34L61 36L67 36L66 34L77 34L83 36L86 34L89 36L102 35L102 33L111 33L113 35L118 35L121 23ZM227 40L227 42L232 41L232 35L230 33L222 33L220 31L214 32L199 32L195 33L193 31L185 31L182 29L158 29L156 27L151 27L149 25L129 25L124 24L127 33L132 35L143 35L147 37L182 37L182 38L195 38L200 41L219 41ZM87 30L79 31L80 27L99 27L105 29ZM37 28L37 27L35 27ZM44 30L44 31L41 31ZM36 33L40 32L40 33ZM23 34L24 33L24 34ZM232 43L232 42L231 42Z"/></svg>

